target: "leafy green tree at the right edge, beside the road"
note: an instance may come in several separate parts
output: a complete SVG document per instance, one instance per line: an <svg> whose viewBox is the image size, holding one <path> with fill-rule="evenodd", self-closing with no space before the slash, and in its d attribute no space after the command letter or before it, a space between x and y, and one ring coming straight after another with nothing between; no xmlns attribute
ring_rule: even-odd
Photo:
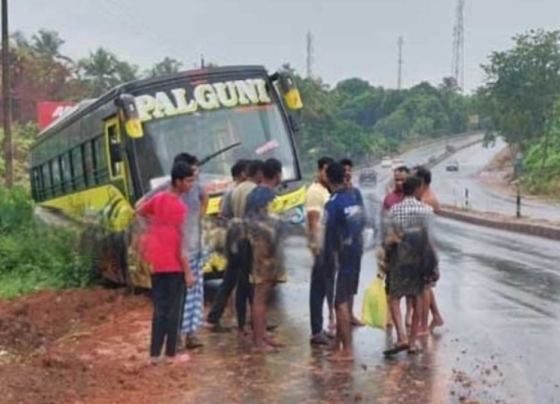
<svg viewBox="0 0 560 404"><path fill-rule="evenodd" d="M521 148L543 140L544 168L560 94L560 32L532 30L514 41L512 49L493 52L483 66L481 95L496 134Z"/></svg>

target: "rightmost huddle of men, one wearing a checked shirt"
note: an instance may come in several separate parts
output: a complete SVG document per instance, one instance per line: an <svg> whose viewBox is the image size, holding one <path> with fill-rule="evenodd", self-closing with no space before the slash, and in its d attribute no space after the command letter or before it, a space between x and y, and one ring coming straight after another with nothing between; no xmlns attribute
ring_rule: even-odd
<svg viewBox="0 0 560 404"><path fill-rule="evenodd" d="M386 355L418 352L417 338L443 325L433 292L440 273L431 221L439 203L431 182L432 174L424 167L417 167L413 172L405 166L397 167L393 189L383 201L382 253L378 260L386 277L389 326L394 324L397 333L397 342L385 351ZM404 322L403 298L406 298ZM430 313L433 318L428 323Z"/></svg>

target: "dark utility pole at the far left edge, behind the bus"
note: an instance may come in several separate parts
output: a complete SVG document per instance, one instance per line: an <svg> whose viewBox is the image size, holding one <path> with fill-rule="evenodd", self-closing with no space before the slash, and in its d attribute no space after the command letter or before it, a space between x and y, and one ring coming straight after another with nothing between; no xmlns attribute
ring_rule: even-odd
<svg viewBox="0 0 560 404"><path fill-rule="evenodd" d="M10 39L8 31L8 0L2 0L2 101L4 118L4 180L14 185L14 145L12 139L12 95L10 84Z"/></svg>

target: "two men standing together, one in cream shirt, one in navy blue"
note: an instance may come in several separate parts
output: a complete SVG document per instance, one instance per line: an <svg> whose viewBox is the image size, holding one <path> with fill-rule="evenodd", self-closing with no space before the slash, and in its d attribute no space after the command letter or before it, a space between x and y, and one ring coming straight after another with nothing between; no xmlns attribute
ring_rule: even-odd
<svg viewBox="0 0 560 404"><path fill-rule="evenodd" d="M310 343L332 347L332 358L342 360L352 358L352 326L362 325L353 314L353 306L358 293L366 218L362 194L352 184L352 168L349 159L319 159L317 176L307 191L305 204L313 255ZM329 310L328 330L323 329L325 301Z"/></svg>

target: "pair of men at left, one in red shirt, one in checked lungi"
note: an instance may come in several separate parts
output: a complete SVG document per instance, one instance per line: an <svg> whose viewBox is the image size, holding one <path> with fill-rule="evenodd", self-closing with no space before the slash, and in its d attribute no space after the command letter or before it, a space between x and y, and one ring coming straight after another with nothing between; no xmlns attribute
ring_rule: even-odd
<svg viewBox="0 0 560 404"><path fill-rule="evenodd" d="M147 222L139 240L140 261L149 266L154 314L150 360L188 360L178 351L202 346L197 337L204 324L201 220L208 196L197 181L198 159L178 154L171 177L136 204ZM186 293L188 290L188 293Z"/></svg>

